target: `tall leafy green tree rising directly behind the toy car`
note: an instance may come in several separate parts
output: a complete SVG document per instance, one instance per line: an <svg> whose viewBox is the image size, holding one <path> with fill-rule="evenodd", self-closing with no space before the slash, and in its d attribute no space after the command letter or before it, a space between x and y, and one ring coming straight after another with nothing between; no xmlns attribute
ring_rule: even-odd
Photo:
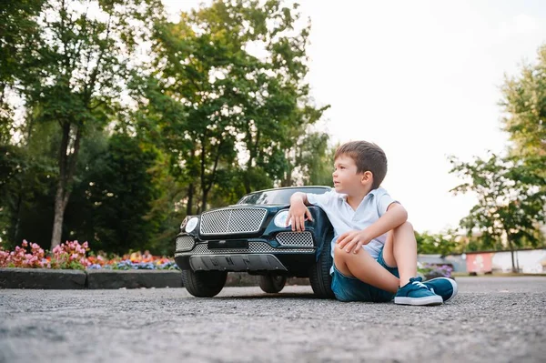
<svg viewBox="0 0 546 363"><path fill-rule="evenodd" d="M231 185L227 177L246 192L271 187L286 171L293 130L298 137L326 108L309 104L309 30L296 29L296 10L276 0L215 1L157 27L157 71L140 88L141 118L187 180L188 215L197 192L197 210L206 209L211 191Z"/></svg>

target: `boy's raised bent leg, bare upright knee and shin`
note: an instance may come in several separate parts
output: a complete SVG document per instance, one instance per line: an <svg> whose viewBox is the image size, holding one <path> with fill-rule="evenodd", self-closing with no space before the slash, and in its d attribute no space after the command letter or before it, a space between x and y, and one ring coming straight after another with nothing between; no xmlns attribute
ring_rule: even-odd
<svg viewBox="0 0 546 363"><path fill-rule="evenodd" d="M383 259L389 267L398 267L400 287L409 283L411 277L417 276L417 241L410 222L389 231L383 247Z"/></svg>

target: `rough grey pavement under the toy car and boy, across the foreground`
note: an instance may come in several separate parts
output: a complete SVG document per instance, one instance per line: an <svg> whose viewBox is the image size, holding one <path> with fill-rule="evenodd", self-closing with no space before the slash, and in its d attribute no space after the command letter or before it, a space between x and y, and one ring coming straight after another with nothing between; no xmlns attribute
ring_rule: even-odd
<svg viewBox="0 0 546 363"><path fill-rule="evenodd" d="M440 307L310 287L0 290L0 362L546 362L546 277L458 277Z"/></svg>

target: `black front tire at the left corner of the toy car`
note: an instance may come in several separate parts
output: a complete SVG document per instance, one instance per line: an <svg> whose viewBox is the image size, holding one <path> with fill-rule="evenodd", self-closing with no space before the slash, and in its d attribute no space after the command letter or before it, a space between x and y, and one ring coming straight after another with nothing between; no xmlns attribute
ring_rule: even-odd
<svg viewBox="0 0 546 363"><path fill-rule="evenodd" d="M182 270L182 282L194 297L215 297L226 285L227 272Z"/></svg>

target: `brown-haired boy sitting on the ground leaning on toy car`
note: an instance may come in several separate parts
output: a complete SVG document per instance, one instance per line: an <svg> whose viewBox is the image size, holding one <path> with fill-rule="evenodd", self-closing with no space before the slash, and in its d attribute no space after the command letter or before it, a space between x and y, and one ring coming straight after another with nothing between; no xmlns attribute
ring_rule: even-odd
<svg viewBox="0 0 546 363"><path fill-rule="evenodd" d="M332 291L341 301L440 305L457 294L446 277L421 282L417 277L417 242L408 213L379 187L387 174L383 150L366 141L339 146L334 188L322 195L295 193L288 224L305 229L306 205L320 207L334 227ZM438 295L437 295L438 294Z"/></svg>

